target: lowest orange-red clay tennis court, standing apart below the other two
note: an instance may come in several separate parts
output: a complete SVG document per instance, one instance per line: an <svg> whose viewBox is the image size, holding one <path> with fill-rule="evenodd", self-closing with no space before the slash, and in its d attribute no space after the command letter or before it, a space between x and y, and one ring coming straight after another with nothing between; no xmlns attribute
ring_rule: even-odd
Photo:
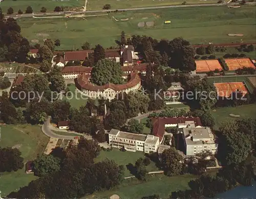
<svg viewBox="0 0 256 199"><path fill-rule="evenodd" d="M218 96L229 97L234 91L242 91L245 94L248 93L243 82L225 82L225 83L214 83Z"/></svg>

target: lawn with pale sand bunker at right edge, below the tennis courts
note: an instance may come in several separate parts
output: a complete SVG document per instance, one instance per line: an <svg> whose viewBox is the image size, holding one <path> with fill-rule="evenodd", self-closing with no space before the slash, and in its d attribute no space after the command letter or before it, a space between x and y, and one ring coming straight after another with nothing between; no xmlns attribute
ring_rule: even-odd
<svg viewBox="0 0 256 199"><path fill-rule="evenodd" d="M211 110L211 114L215 117L215 129L218 129L223 121L235 120L240 118L251 117L256 118L256 104L248 104L237 107L221 107L217 108L216 112ZM240 115L239 118L231 117L229 114Z"/></svg>

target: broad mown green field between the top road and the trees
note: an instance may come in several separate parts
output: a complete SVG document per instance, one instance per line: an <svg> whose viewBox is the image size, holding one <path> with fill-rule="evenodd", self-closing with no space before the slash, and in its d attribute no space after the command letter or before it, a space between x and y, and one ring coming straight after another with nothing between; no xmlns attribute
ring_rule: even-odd
<svg viewBox="0 0 256 199"><path fill-rule="evenodd" d="M49 38L60 39L59 49L81 49L85 41L91 46L100 44L107 48L116 46L121 31L126 37L148 35L156 39L184 37L193 44L208 42L255 41L255 6L243 6L238 9L219 7L187 7L142 11L110 13L108 16L83 18L18 19L23 36L44 38L37 33L49 34ZM113 17L115 17L116 21ZM120 19L128 19L121 21ZM165 20L172 23L165 25ZM138 28L140 21L155 21L154 28ZM57 32L58 30L58 32ZM54 31L54 32L50 32ZM230 37L228 33L242 33L243 37Z"/></svg>

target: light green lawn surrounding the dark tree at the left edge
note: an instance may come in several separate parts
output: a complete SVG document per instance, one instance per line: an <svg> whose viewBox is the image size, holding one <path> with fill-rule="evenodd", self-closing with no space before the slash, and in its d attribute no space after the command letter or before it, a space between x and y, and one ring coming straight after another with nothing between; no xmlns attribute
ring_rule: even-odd
<svg viewBox="0 0 256 199"><path fill-rule="evenodd" d="M24 162L34 160L41 154L49 141L49 138L42 134L41 128L36 125L6 125L1 126L1 147L13 147L22 152ZM37 179L33 174L26 174L25 167L17 172L1 173L2 196L11 191L17 191L19 187L26 186L32 180Z"/></svg>

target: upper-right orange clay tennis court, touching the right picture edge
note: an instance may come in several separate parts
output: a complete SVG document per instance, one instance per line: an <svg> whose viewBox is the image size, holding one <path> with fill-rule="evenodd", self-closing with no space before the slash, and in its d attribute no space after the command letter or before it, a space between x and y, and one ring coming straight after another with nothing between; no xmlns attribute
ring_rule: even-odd
<svg viewBox="0 0 256 199"><path fill-rule="evenodd" d="M254 68L254 64L249 58L241 58L241 59L225 59L225 62L229 68L229 71L235 71L237 69L242 69L243 67Z"/></svg>

